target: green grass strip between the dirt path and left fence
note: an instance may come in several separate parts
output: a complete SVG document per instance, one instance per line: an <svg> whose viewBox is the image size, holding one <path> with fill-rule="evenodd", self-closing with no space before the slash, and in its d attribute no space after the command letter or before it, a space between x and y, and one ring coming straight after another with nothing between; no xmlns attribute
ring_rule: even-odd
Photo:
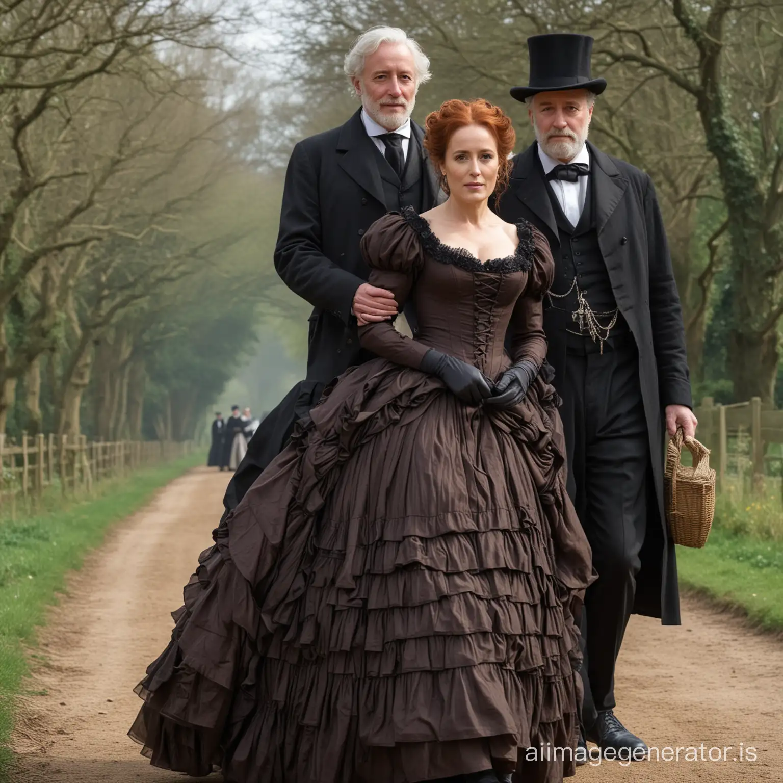
<svg viewBox="0 0 783 783"><path fill-rule="evenodd" d="M79 568L117 521L139 511L154 493L189 468L204 463L196 453L181 460L104 482L90 499L60 500L59 510L17 521L0 521L0 780L9 768L9 738L15 697L24 687L25 647L46 609L65 589L65 576Z"/></svg>

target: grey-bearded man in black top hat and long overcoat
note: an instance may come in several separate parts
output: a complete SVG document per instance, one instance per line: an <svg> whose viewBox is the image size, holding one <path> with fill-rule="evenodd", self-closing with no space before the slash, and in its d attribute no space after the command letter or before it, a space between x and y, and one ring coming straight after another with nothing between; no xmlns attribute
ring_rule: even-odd
<svg viewBox="0 0 783 783"><path fill-rule="evenodd" d="M568 492L598 578L583 612L583 731L602 750L642 756L615 717L615 661L630 614L680 624L663 502L666 431L694 435L680 298L648 175L586 141L596 96L593 39L528 39L536 142L518 155L497 210L546 234L555 277L544 300L547 359L561 396ZM582 744L583 744L582 740Z"/></svg>

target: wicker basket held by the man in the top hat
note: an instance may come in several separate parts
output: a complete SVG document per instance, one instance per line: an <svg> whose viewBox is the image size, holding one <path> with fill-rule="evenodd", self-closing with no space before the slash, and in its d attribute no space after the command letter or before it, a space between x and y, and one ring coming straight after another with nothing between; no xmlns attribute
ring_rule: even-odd
<svg viewBox="0 0 783 783"><path fill-rule="evenodd" d="M685 446L694 467L680 464ZM703 547L715 515L715 471L709 467L709 449L695 438L685 438L682 428L666 446L666 519L674 543Z"/></svg>

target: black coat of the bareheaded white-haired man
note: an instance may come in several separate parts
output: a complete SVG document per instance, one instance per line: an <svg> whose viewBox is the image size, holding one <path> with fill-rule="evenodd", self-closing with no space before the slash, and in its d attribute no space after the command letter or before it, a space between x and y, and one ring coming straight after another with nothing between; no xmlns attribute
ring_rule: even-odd
<svg viewBox="0 0 783 783"><path fill-rule="evenodd" d="M371 358L359 345L351 309L356 289L370 276L359 240L388 208L381 180L384 159L367 135L361 114L359 109L340 127L304 139L291 153L274 261L283 283L313 307L307 377L255 432L226 490L227 511L236 507L262 469L280 453L294 421L316 404L324 386L348 367ZM410 128L409 160L414 149L422 150L426 211L438 203L438 178L422 146L423 128L413 121ZM410 305L405 314L416 334Z"/></svg>

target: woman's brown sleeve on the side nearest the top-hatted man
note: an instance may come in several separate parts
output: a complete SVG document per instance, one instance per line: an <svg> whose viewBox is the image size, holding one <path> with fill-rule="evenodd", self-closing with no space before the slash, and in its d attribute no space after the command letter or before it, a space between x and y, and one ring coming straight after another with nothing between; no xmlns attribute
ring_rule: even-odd
<svg viewBox="0 0 783 783"><path fill-rule="evenodd" d="M514 305L509 324L511 359L514 363L530 359L538 366L547 358L547 337L543 332L543 297L554 279L554 260L547 237L534 226L520 241L530 246L531 268L525 290Z"/></svg>

